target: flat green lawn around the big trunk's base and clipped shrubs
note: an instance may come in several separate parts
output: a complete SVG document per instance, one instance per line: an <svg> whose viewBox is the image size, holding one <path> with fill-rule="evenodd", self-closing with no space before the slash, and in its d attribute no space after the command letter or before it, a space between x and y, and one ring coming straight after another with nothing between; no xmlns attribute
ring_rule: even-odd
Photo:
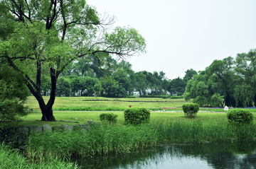
<svg viewBox="0 0 256 169"><path fill-rule="evenodd" d="M103 112L53 112L56 120L65 120L79 122L79 124L84 124L88 120L93 120L95 122L100 122L100 114ZM117 125L124 124L124 112L112 112L114 115L117 115ZM253 113L255 115L255 113ZM41 112L31 112L27 117L21 117L21 120L32 120L25 122L0 122L1 126L11 125L37 125L43 126L43 124L49 124L51 127L60 125L60 124L78 124L72 122L41 122ZM39 120L39 121L36 121ZM196 121L196 122L206 122L213 124L227 124L227 114L221 112L198 112L198 115L195 119L186 118L183 112L151 112L151 122L156 121ZM256 119L254 120L254 123Z"/></svg>

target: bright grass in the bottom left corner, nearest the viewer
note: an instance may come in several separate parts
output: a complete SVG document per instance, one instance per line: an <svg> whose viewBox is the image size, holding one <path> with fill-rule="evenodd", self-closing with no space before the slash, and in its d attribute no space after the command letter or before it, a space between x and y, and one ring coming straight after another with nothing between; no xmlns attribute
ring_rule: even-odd
<svg viewBox="0 0 256 169"><path fill-rule="evenodd" d="M78 168L77 164L68 163L57 158L38 158L37 161L25 158L12 150L4 143L0 144L0 168L38 168L38 169L52 169L52 168Z"/></svg>

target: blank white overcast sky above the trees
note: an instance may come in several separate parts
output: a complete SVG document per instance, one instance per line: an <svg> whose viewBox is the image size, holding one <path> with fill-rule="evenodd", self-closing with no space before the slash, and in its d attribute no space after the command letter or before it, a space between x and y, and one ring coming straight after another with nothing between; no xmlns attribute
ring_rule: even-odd
<svg viewBox="0 0 256 169"><path fill-rule="evenodd" d="M255 0L87 0L146 40L146 54L127 59L134 71L164 71L183 78L214 59L256 48Z"/></svg>

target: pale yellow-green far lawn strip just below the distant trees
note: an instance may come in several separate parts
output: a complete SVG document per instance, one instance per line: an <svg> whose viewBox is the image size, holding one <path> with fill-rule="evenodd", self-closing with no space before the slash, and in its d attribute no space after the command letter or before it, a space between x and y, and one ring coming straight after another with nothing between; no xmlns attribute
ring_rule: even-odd
<svg viewBox="0 0 256 169"><path fill-rule="evenodd" d="M47 103L49 96L43 96ZM87 100L87 101L82 101ZM92 100L92 101L89 101ZM93 101L95 100L95 101ZM110 100L110 101L100 101ZM134 101L134 102L127 102ZM146 102L135 102L146 101ZM54 108L58 107L181 107L185 102L184 99L162 99L162 98L103 98L103 97L56 97ZM26 100L28 108L39 108L38 101L31 96Z"/></svg>

